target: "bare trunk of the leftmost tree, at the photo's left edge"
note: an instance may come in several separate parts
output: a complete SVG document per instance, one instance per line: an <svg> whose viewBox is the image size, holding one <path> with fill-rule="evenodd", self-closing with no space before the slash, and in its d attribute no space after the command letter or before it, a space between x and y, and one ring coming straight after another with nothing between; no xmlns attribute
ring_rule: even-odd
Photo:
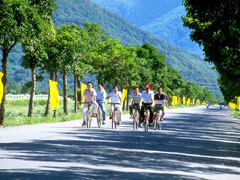
<svg viewBox="0 0 240 180"><path fill-rule="evenodd" d="M7 95L7 58L8 58L8 49L3 49L3 59L2 59L2 84L3 84L3 97L0 110L0 126L4 126L5 123L5 110L6 110L6 95Z"/></svg>

